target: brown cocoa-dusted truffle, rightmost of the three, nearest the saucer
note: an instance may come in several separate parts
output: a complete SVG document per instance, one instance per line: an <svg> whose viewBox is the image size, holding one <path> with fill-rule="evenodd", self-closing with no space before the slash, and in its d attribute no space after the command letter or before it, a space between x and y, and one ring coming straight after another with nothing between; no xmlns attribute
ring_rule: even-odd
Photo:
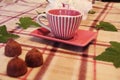
<svg viewBox="0 0 120 80"><path fill-rule="evenodd" d="M29 67L39 67L43 64L43 56L36 48L33 48L26 54L25 62Z"/></svg>

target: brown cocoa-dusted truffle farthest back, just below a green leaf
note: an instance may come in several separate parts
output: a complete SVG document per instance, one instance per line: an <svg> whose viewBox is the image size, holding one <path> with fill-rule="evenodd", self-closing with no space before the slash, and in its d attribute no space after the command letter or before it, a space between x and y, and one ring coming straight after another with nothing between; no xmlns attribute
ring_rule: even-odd
<svg viewBox="0 0 120 80"><path fill-rule="evenodd" d="M19 56L21 52L21 45L13 39L9 39L5 46L5 55L8 57L14 57Z"/></svg>

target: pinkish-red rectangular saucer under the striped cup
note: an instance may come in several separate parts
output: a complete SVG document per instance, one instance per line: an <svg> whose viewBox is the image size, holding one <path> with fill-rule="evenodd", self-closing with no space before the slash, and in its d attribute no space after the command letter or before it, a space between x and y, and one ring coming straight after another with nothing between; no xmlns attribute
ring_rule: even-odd
<svg viewBox="0 0 120 80"><path fill-rule="evenodd" d="M74 38L70 40L62 40L62 39L55 38L52 35L52 33L50 33L50 31L41 27L37 30L32 31L31 35L39 37L39 38L47 39L47 40L52 40L56 42L61 42L65 44L83 47L83 46L86 46L88 43L90 43L92 40L94 40L97 36L97 33L79 29L76 35L74 36Z"/></svg>

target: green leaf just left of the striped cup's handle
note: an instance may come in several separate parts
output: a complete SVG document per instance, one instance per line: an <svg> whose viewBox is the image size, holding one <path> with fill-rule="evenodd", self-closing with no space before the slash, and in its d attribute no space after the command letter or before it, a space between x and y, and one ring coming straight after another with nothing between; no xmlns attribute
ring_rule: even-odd
<svg viewBox="0 0 120 80"><path fill-rule="evenodd" d="M27 29L31 26L40 27L40 25L37 22L33 21L32 18L30 18L30 17L21 17L19 19L19 22L20 23L16 23L16 24L18 24L23 29Z"/></svg>

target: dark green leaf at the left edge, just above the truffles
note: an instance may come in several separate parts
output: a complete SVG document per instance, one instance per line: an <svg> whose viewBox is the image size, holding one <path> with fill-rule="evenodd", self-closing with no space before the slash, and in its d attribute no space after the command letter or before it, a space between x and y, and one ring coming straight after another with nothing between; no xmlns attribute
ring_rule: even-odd
<svg viewBox="0 0 120 80"><path fill-rule="evenodd" d="M5 43L10 38L18 38L18 37L19 37L18 35L8 33L5 25L0 26L0 43Z"/></svg>

